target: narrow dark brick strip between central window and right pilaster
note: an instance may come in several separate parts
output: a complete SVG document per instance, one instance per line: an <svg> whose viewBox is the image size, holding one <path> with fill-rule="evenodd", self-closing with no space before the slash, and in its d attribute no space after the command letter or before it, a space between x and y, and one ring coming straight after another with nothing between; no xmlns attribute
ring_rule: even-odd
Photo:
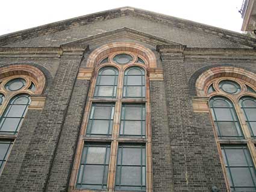
<svg viewBox="0 0 256 192"><path fill-rule="evenodd" d="M170 130L163 81L150 82L154 191L173 191Z"/></svg>

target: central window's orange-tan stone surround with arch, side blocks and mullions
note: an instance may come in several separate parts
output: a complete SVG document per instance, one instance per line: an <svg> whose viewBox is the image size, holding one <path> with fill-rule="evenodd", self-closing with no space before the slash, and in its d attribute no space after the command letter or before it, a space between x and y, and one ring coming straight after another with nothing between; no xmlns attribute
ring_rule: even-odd
<svg viewBox="0 0 256 192"><path fill-rule="evenodd" d="M133 56L134 60L128 64L116 64L111 61L111 58L116 54L130 54ZM145 64L136 63L136 57L140 57L145 61ZM108 57L108 63L101 63L104 58ZM95 67L96 66L96 67ZM94 88L96 84L96 77L98 76L99 70L102 67L113 66L119 70L119 79L117 81L117 97L113 99L95 99L93 98ZM122 88L123 88L123 76L125 69L128 67L138 66L142 67L145 70L145 78L146 78L146 97L138 98L138 99L126 99L122 98ZM78 147L76 150L75 161L73 163L72 176L70 179L69 191L93 191L88 189L76 189L76 179L77 173L80 166L81 152L84 146L85 141L107 141L111 143L111 155L110 155L110 166L109 166L109 174L108 174L108 190L114 191L114 180L115 180L115 172L116 172L116 158L117 158L117 147L118 142L121 143L145 143L146 144L146 191L152 191L152 152L151 152L151 122L150 122L150 105L149 105L149 80L155 81L163 81L163 71L156 67L156 59L154 53L136 43L110 43L110 45L102 46L92 54L89 55L87 59L87 67L84 69L80 69L78 73L78 79L92 79L91 86L89 91L89 96L87 99L86 110L84 113L84 119L81 126L80 138L78 140ZM150 67L150 68L149 68ZM96 69L95 69L96 68ZM148 71L148 73L147 73ZM152 77L152 78L151 78ZM88 138L86 137L86 126L88 123L88 117L90 114L90 108L92 102L116 102L115 114L114 114L114 125L113 125L113 134L111 138ZM120 109L122 103L145 103L146 107L146 138L120 138L119 135L119 120L120 120Z"/></svg>

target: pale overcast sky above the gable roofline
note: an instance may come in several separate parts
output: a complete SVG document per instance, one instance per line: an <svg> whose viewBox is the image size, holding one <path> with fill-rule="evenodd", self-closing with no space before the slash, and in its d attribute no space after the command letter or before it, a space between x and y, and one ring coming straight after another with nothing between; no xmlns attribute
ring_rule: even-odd
<svg viewBox="0 0 256 192"><path fill-rule="evenodd" d="M240 32L243 0L7 0L1 1L0 35L111 8L131 6Z"/></svg>

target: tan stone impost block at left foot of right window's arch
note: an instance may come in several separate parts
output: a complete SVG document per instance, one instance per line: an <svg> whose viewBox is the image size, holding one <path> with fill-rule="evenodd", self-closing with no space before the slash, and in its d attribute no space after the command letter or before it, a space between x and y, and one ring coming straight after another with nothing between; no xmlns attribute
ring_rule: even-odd
<svg viewBox="0 0 256 192"><path fill-rule="evenodd" d="M209 113L208 97L192 97L192 106L195 113Z"/></svg>

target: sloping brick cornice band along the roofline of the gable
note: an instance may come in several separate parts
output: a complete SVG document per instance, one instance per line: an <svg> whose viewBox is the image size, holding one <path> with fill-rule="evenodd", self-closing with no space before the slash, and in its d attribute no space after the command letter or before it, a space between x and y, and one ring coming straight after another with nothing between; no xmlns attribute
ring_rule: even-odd
<svg viewBox="0 0 256 192"><path fill-rule="evenodd" d="M221 29L214 26L205 25L186 19L180 19L178 17L167 16L165 14L155 13L134 7L114 8L112 10L87 14L85 16L61 20L59 22L49 23L47 25L37 26L35 28L6 34L4 36L0 36L0 46L8 45L14 42L20 42L22 40L31 39L33 37L43 36L45 34L52 34L58 31L63 31L65 29L74 28L76 26L87 25L90 23L114 19L122 16L140 17L142 19L151 20L152 22L175 26L176 28L192 30L198 33L211 34L213 36L220 37L221 39L229 40L230 42L239 43L240 45L245 45L252 48L256 47L256 39L240 33L236 33L234 31L229 31L226 29Z"/></svg>

